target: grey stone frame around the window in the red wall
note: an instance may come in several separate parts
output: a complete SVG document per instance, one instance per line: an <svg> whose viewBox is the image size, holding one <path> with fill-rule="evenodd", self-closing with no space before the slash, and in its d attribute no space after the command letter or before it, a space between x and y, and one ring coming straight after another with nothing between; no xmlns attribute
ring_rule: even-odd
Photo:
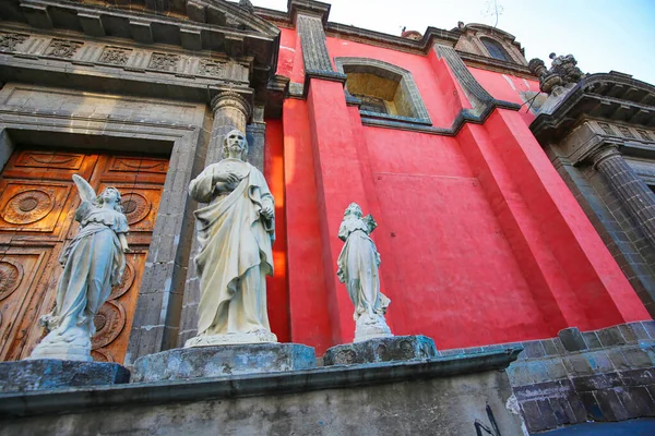
<svg viewBox="0 0 655 436"><path fill-rule="evenodd" d="M430 119L428 109L426 108L422 98L420 97L418 87L416 86L414 77L412 76L412 73L409 71L396 66L392 63L371 58L338 57L334 58L334 64L336 66L336 70L342 74L347 74L346 71L353 73L368 73L397 82L398 86L403 87L403 93L407 97L407 101L409 104L413 114L416 114L416 117L403 117L360 110L359 114L362 119L389 120L393 122L400 121L409 124L432 125L432 120ZM382 72L383 74L380 74L380 72ZM344 92L346 93L347 101L359 101L359 99L350 95L350 93L348 93L348 90L345 87Z"/></svg>

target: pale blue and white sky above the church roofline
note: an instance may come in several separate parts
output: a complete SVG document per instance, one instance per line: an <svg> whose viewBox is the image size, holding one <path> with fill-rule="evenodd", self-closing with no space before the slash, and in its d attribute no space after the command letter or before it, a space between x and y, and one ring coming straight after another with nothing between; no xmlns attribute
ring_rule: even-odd
<svg viewBox="0 0 655 436"><path fill-rule="evenodd" d="M251 0L286 11L287 0ZM391 35L452 29L458 21L495 25L493 0L322 0L329 21ZM516 37L525 58L573 55L585 73L610 70L655 84L655 0L496 0L497 27Z"/></svg>

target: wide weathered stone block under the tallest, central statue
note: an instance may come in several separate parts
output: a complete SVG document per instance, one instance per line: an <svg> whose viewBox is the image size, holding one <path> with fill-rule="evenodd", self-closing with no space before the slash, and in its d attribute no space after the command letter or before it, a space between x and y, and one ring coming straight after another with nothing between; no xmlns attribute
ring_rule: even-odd
<svg viewBox="0 0 655 436"><path fill-rule="evenodd" d="M134 362L132 383L310 370L314 349L298 343L178 348Z"/></svg>

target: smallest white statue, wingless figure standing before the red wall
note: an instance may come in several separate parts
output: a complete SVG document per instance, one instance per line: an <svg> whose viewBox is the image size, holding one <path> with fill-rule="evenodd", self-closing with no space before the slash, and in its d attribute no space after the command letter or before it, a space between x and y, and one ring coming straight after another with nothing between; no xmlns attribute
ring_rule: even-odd
<svg viewBox="0 0 655 436"><path fill-rule="evenodd" d="M338 229L345 244L336 275L355 305L355 342L393 336L384 319L391 301L380 292L380 253L369 237L376 227L373 217L364 217L359 205L352 203Z"/></svg>

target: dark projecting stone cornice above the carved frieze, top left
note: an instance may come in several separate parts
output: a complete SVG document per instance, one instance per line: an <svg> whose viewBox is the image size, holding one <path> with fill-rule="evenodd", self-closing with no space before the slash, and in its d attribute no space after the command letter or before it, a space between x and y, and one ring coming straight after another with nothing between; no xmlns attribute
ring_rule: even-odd
<svg viewBox="0 0 655 436"><path fill-rule="evenodd" d="M180 11L186 9L187 15L171 12L172 4L180 2L184 3ZM255 70L265 70L269 75L275 72L279 29L237 4L223 0L180 0L160 11L158 1L142 1L140 8L136 3L140 1L132 1L131 8L121 8L116 2L104 5L91 0L5 0L0 2L0 16L4 23L24 20L40 29L80 28L96 38L120 36L140 44L212 50L235 58L251 55ZM73 35L70 36L80 37Z"/></svg>

